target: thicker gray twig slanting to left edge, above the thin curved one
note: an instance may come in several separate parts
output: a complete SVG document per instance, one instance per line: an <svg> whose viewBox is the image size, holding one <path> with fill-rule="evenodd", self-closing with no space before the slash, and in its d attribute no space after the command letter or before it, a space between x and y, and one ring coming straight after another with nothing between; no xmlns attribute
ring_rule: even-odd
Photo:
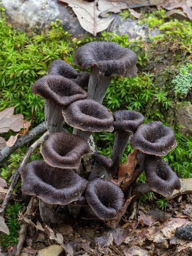
<svg viewBox="0 0 192 256"><path fill-rule="evenodd" d="M31 131L26 133L26 135L24 135L23 137L20 137L15 142L13 147L11 147L11 148L9 148L9 147L3 148L3 150L0 151L0 163L3 162L3 160L5 160L5 158L7 158L7 156L9 156L15 150L17 150L18 148L23 146L25 143L31 141L32 139L34 139L34 137L36 137L36 135L38 135L40 133L43 133L44 131L46 131L46 122L41 123L40 125L36 126Z"/></svg>

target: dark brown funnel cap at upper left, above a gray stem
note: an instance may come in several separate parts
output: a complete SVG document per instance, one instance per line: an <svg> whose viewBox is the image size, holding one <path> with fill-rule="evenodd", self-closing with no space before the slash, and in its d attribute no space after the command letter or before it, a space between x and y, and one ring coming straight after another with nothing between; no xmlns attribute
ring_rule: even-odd
<svg viewBox="0 0 192 256"><path fill-rule="evenodd" d="M32 93L50 99L61 106L87 97L86 91L61 75L44 75L32 86Z"/></svg>

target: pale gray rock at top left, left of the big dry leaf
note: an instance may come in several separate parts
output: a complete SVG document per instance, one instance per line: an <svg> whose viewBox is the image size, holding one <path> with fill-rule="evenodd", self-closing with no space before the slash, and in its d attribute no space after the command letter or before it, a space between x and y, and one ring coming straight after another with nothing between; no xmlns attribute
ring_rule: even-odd
<svg viewBox="0 0 192 256"><path fill-rule="evenodd" d="M57 19L62 21L63 29L73 36L86 35L73 11L57 0L2 0L2 5L7 21L29 36L46 30Z"/></svg>

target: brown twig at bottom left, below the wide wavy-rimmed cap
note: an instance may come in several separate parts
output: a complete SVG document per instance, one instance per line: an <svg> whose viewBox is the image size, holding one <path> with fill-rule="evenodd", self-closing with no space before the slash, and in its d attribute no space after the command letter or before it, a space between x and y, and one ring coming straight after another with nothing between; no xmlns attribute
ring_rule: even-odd
<svg viewBox="0 0 192 256"><path fill-rule="evenodd" d="M31 197L26 213L24 215L32 216L34 214L34 210L36 208L37 203L38 203L38 199L36 197ZM18 239L18 245L15 251L13 251L12 255L20 256L20 253L24 245L24 241L26 239L27 228L28 228L28 223L24 222L20 229L20 237Z"/></svg>

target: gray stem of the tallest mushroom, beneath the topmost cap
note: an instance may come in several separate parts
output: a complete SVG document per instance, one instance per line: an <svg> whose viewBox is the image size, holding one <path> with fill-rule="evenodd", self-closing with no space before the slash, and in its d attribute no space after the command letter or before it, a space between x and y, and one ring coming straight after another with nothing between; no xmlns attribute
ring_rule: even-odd
<svg viewBox="0 0 192 256"><path fill-rule="evenodd" d="M104 73L100 73L97 65L91 67L91 74L88 84L88 99L95 100L102 104L102 100L106 94L106 90L113 76L105 76Z"/></svg>

